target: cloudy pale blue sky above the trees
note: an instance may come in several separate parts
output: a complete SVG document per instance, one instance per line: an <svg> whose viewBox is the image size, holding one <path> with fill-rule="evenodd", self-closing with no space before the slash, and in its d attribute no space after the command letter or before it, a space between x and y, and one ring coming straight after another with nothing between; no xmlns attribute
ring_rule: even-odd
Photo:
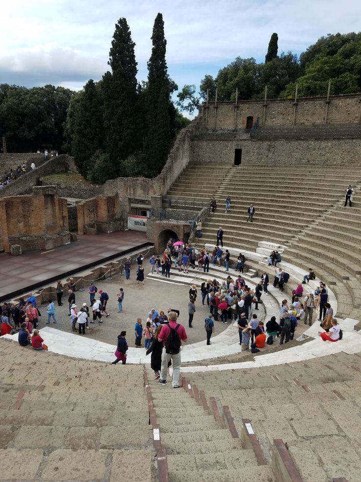
<svg viewBox="0 0 361 482"><path fill-rule="evenodd" d="M263 61L277 32L279 52L303 52L320 36L360 30L361 2L335 0L12 0L0 8L0 84L79 90L108 70L115 23L125 17L147 79L152 28L163 14L170 77L199 87L235 57Z"/></svg>

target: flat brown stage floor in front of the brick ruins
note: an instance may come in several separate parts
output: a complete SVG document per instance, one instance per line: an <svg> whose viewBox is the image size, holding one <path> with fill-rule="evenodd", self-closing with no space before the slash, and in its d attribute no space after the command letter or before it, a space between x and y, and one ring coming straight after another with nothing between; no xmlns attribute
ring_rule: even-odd
<svg viewBox="0 0 361 482"><path fill-rule="evenodd" d="M46 280L64 278L84 266L95 266L106 258L147 242L143 232L117 231L96 236L78 235L77 241L49 251L28 251L21 256L0 255L0 301L25 292L28 286L45 284Z"/></svg>

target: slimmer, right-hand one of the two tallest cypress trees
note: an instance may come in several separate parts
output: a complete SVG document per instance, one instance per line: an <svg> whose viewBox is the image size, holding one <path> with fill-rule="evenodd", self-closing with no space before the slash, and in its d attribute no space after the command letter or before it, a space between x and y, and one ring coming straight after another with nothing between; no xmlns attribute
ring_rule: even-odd
<svg viewBox="0 0 361 482"><path fill-rule="evenodd" d="M147 160L149 174L157 175L167 161L171 140L169 121L170 86L167 74L164 22L161 13L155 18L152 55L148 62L148 133Z"/></svg>

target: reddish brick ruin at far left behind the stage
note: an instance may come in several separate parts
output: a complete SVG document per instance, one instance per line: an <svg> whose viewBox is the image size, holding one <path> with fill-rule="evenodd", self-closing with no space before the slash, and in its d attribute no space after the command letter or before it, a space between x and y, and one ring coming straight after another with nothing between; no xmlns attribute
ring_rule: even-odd
<svg viewBox="0 0 361 482"><path fill-rule="evenodd" d="M0 199L0 225L0 244L5 251L13 244L28 251L70 242L67 202L52 186L34 187L32 195Z"/></svg>

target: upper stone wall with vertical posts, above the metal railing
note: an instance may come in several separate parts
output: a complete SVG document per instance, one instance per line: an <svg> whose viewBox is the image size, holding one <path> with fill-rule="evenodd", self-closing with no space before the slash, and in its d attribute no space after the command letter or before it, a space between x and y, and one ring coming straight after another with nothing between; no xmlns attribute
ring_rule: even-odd
<svg viewBox="0 0 361 482"><path fill-rule="evenodd" d="M360 124L361 94L267 99L214 103L201 107L204 129L239 129L246 127L247 117L260 126Z"/></svg>

